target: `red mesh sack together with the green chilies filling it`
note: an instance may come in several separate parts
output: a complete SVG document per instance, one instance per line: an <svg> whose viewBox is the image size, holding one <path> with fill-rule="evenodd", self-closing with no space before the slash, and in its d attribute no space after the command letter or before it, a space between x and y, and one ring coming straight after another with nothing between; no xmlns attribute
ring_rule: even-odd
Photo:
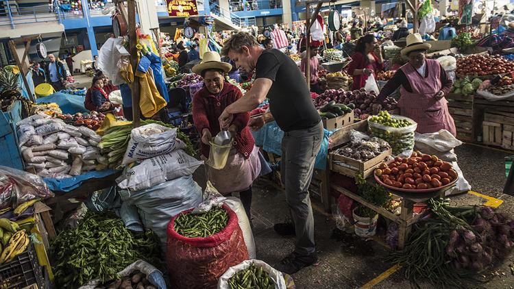
<svg viewBox="0 0 514 289"><path fill-rule="evenodd" d="M236 213L228 205L212 207L202 214L192 211L174 216L168 225L167 264L171 285L216 288L219 277L228 268L248 259L243 232Z"/></svg>

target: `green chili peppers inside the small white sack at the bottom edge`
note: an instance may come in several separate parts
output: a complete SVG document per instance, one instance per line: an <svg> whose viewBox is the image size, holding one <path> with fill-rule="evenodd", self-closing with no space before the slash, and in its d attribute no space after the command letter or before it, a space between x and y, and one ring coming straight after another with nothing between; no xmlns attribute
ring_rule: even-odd
<svg viewBox="0 0 514 289"><path fill-rule="evenodd" d="M228 279L230 289L275 289L275 282L261 266L252 264L245 270L241 270Z"/></svg>

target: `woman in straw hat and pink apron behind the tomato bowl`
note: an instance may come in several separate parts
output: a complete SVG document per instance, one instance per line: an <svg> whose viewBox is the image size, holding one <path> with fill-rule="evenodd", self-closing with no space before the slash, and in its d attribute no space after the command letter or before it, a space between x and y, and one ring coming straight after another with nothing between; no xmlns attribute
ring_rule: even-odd
<svg viewBox="0 0 514 289"><path fill-rule="evenodd" d="M407 36L406 45L401 53L408 58L408 63L396 71L382 88L374 112L380 111L380 103L402 86L398 108L402 116L417 123L417 132L427 134L446 129L456 136L455 123L444 98L452 88L452 79L437 60L426 59L426 51L431 46L424 43L419 34Z"/></svg>

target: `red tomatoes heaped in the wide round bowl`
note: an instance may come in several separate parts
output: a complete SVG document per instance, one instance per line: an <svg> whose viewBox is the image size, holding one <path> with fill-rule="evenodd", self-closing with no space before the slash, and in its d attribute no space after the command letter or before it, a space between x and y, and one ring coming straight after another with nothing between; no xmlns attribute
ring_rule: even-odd
<svg viewBox="0 0 514 289"><path fill-rule="evenodd" d="M396 157L389 164L382 163L375 175L387 186L407 190L426 190L446 186L458 178L448 162L436 155L414 152L411 158Z"/></svg>

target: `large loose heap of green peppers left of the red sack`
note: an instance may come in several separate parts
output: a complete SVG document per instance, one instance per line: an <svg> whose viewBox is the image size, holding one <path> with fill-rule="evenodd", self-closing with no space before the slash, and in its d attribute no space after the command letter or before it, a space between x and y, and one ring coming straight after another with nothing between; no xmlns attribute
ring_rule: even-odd
<svg viewBox="0 0 514 289"><path fill-rule="evenodd" d="M61 231L51 244L50 255L56 288L117 279L119 271L138 259L160 265L153 232L134 233L116 215L96 212L88 212L74 229Z"/></svg>

